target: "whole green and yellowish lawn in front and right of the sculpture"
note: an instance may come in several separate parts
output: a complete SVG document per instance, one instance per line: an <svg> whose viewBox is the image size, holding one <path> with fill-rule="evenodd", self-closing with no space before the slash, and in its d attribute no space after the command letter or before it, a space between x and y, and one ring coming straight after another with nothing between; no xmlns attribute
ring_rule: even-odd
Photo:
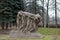
<svg viewBox="0 0 60 40"><path fill-rule="evenodd" d="M0 35L0 40L60 40L60 28L39 28L38 32L43 38L9 38L8 35Z"/></svg>

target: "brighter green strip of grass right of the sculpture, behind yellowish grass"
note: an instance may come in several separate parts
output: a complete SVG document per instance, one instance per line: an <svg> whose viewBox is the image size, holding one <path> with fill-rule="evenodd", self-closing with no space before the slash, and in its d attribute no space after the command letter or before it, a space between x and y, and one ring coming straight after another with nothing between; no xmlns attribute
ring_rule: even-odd
<svg viewBox="0 0 60 40"><path fill-rule="evenodd" d="M60 28L39 28L38 32L41 34L60 34Z"/></svg>

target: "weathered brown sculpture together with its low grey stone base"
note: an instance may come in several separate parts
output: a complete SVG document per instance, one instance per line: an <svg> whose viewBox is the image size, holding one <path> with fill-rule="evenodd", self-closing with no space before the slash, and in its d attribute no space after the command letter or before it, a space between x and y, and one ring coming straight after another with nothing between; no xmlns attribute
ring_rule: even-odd
<svg viewBox="0 0 60 40"><path fill-rule="evenodd" d="M41 37L37 33L38 24L41 20L39 14L19 11L17 14L17 30L11 31L12 37Z"/></svg>

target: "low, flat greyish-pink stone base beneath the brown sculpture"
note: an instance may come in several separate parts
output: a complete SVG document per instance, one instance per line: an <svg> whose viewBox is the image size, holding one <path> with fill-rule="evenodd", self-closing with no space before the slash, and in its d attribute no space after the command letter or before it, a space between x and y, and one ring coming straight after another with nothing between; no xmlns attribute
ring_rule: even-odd
<svg viewBox="0 0 60 40"><path fill-rule="evenodd" d="M43 38L44 36L40 33L34 32L34 33L22 33L19 31L11 31L10 32L11 38Z"/></svg>

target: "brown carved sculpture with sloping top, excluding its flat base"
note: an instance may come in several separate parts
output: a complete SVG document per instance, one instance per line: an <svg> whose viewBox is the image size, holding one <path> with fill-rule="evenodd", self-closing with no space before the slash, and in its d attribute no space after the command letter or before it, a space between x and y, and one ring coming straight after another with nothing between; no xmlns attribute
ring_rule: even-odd
<svg viewBox="0 0 60 40"><path fill-rule="evenodd" d="M35 32L38 29L41 16L29 12L19 11L17 14L17 27L21 32Z"/></svg>

